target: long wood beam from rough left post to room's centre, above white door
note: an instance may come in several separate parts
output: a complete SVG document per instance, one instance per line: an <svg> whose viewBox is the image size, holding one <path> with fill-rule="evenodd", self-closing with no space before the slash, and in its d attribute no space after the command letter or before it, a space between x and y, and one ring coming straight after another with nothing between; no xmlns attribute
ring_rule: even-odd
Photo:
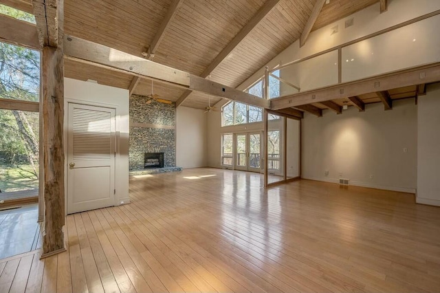
<svg viewBox="0 0 440 293"><path fill-rule="evenodd" d="M115 69L118 72L153 79L230 100L238 100L256 107L265 109L270 107L269 100L74 36L65 36L64 52L78 62L84 61L87 64Z"/></svg>

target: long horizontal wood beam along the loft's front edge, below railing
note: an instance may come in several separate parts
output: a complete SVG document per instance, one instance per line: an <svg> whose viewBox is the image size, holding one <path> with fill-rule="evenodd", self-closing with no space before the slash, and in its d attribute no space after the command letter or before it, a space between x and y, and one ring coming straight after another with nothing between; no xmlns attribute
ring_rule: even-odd
<svg viewBox="0 0 440 293"><path fill-rule="evenodd" d="M298 105L322 102L323 100L335 98L349 98L351 96L371 94L376 91L387 91L398 87L419 85L420 83L435 83L439 80L440 63L433 63L404 69L399 72L382 74L372 78L364 78L349 83L333 85L323 89L314 89L282 98L274 98L271 100L271 109L277 110L296 107Z"/></svg>

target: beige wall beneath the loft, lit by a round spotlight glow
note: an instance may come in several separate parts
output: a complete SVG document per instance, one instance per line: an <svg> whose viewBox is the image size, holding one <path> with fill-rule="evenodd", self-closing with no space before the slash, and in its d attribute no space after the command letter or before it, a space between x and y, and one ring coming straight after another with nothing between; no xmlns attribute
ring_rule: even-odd
<svg viewBox="0 0 440 293"><path fill-rule="evenodd" d="M333 111L324 111L322 117L305 113L302 134L301 177L327 182L338 182L342 177L351 185L415 193L414 99L396 100L391 111L375 103L366 105L364 112L349 107L342 115Z"/></svg>

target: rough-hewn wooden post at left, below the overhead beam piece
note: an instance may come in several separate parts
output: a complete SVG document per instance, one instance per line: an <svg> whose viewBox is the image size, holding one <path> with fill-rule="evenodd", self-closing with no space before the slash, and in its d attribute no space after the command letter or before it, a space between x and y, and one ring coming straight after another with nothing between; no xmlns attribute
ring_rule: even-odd
<svg viewBox="0 0 440 293"><path fill-rule="evenodd" d="M65 251L64 197L64 62L61 47L43 47L43 155L45 235L43 254Z"/></svg>

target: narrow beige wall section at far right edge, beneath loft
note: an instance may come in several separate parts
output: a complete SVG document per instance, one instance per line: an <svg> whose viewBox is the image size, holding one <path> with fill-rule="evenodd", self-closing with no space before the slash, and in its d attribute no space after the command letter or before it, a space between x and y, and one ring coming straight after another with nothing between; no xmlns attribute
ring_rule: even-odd
<svg viewBox="0 0 440 293"><path fill-rule="evenodd" d="M417 108L416 201L440 206L440 83L428 86Z"/></svg>

